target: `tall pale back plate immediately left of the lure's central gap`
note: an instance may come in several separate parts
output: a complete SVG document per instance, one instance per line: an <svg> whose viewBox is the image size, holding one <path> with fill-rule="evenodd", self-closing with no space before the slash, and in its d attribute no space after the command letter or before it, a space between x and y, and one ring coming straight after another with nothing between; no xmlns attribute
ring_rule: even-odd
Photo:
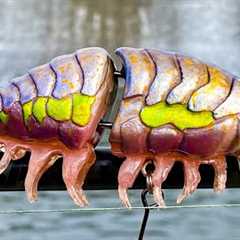
<svg viewBox="0 0 240 240"><path fill-rule="evenodd" d="M103 73L108 64L108 53L102 48L85 48L76 52L76 58L83 71L81 93L95 96L104 81Z"/></svg>

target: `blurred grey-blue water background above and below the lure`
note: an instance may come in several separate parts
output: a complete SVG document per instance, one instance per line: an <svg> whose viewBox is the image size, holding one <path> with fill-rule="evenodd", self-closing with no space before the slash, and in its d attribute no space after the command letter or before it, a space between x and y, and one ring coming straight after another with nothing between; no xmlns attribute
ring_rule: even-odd
<svg viewBox="0 0 240 240"><path fill-rule="evenodd" d="M42 0L41 4L5 0L0 6L1 82L53 56L87 46L104 47L111 55L119 46L167 49L240 75L238 0ZM117 112L118 107L114 105L113 110ZM107 146L106 135L101 144ZM167 205L175 204L178 191L166 190ZM92 207L120 206L115 190L88 191L87 195ZM140 191L130 191L130 196L134 205L141 206ZM221 195L206 189L194 193L186 204L237 203L239 199L238 189ZM22 192L1 193L0 202L4 210L74 206L65 192L52 191L40 192L40 201L34 205L26 202ZM1 215L1 239L136 239L142 214L132 210ZM151 212L145 238L223 240L239 239L239 235L238 209L201 208Z"/></svg>

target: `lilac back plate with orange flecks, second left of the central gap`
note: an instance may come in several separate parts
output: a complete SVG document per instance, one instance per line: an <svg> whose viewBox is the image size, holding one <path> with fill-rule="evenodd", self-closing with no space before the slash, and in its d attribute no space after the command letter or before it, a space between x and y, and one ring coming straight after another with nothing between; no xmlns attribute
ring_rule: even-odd
<svg viewBox="0 0 240 240"><path fill-rule="evenodd" d="M55 98L60 99L80 91L83 76L74 55L57 57L51 61L50 65L57 77L52 93Z"/></svg>

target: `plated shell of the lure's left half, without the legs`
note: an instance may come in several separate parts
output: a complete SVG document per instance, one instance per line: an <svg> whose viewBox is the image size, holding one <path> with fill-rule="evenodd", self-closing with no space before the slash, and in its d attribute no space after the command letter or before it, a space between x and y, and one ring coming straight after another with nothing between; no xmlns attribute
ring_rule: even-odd
<svg viewBox="0 0 240 240"><path fill-rule="evenodd" d="M112 72L110 57L101 48L57 57L0 88L0 119L14 135L57 136L68 145L77 145L80 139L70 136L69 129L83 131L92 117L100 121L96 112L102 111L102 117L106 107L95 105L107 102Z"/></svg>

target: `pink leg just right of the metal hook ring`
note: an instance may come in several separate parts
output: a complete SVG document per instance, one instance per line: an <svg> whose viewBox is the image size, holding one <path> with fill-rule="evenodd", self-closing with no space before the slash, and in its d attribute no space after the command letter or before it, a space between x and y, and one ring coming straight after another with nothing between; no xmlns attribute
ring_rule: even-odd
<svg viewBox="0 0 240 240"><path fill-rule="evenodd" d="M175 159L173 159L171 155L157 155L155 157L155 170L152 175L153 196L159 207L165 207L165 202L162 196L162 183L166 180L174 162Z"/></svg>

